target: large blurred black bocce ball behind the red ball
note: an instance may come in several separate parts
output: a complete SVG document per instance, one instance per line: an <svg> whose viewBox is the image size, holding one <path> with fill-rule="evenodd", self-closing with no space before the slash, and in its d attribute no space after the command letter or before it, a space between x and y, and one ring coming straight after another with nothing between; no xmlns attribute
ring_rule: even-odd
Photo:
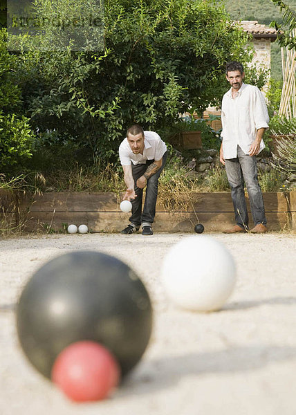
<svg viewBox="0 0 296 415"><path fill-rule="evenodd" d="M57 355L80 340L107 347L124 376L144 353L151 327L145 286L127 264L101 252L52 259L31 277L17 305L21 347L47 378Z"/></svg>

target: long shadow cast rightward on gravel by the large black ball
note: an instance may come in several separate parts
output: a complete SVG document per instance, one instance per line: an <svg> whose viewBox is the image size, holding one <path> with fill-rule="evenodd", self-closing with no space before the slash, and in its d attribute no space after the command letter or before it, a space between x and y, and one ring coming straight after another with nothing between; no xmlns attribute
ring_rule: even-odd
<svg viewBox="0 0 296 415"><path fill-rule="evenodd" d="M296 358L293 347L237 347L208 353L189 353L142 362L122 382L118 394L151 394L178 384L182 377L254 371L270 362Z"/></svg>

